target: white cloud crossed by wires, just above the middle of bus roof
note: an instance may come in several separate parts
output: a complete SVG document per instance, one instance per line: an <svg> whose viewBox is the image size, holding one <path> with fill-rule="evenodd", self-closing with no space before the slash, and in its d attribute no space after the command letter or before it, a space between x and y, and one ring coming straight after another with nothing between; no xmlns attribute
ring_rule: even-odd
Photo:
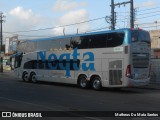
<svg viewBox="0 0 160 120"><path fill-rule="evenodd" d="M58 19L58 25L69 25L74 23L80 23L88 20L88 13L85 9L80 9L76 11L70 11ZM82 24L76 24L73 26L65 27L65 33L76 33L77 29L79 32L85 32L89 29L89 24L87 22ZM53 34L62 35L63 28L53 29Z"/></svg>

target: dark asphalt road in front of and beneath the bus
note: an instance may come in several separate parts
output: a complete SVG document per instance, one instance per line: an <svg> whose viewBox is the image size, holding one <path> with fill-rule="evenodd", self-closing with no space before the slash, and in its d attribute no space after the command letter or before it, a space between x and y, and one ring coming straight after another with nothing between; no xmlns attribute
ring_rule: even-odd
<svg viewBox="0 0 160 120"><path fill-rule="evenodd" d="M0 75L0 111L160 111L160 90L94 91L74 85L25 83L10 74Z"/></svg>

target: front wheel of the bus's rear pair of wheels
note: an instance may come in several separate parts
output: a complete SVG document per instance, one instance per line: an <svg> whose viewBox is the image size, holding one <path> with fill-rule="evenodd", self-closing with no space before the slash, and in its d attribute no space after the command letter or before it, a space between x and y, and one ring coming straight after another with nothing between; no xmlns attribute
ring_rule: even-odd
<svg viewBox="0 0 160 120"><path fill-rule="evenodd" d="M82 75L78 79L78 84L81 88L86 89L89 87L89 81L85 75Z"/></svg>

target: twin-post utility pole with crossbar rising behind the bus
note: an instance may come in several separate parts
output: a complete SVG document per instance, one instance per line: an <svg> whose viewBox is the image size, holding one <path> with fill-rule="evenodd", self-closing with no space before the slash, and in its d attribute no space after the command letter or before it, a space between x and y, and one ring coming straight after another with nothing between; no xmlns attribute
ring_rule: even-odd
<svg viewBox="0 0 160 120"><path fill-rule="evenodd" d="M114 0L111 0L111 30L115 29L115 12L114 9L116 6L126 5L130 3L130 28L134 28L134 7L133 7L133 0L122 2L122 3L114 3Z"/></svg>

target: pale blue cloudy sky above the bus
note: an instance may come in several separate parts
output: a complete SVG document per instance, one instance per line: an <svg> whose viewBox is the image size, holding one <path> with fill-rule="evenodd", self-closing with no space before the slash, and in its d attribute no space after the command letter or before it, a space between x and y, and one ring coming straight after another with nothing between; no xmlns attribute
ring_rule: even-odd
<svg viewBox="0 0 160 120"><path fill-rule="evenodd" d="M29 39L106 30L110 27L110 4L111 0L0 0L0 11L5 15L3 35L18 34L21 39ZM159 0L134 0L134 8L138 27L149 29L149 25L159 24ZM129 10L129 4L115 7L116 29L129 27Z"/></svg>

